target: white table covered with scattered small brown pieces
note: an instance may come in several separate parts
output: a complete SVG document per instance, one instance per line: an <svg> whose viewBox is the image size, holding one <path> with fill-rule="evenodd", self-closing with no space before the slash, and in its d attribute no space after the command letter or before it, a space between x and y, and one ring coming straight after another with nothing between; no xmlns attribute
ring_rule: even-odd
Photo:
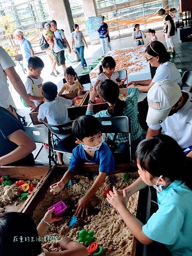
<svg viewBox="0 0 192 256"><path fill-rule="evenodd" d="M128 82L151 79L149 63L144 58L145 46L112 50L106 56L112 56L116 62L116 71L127 70ZM90 72L91 84L95 84L101 61Z"/></svg>

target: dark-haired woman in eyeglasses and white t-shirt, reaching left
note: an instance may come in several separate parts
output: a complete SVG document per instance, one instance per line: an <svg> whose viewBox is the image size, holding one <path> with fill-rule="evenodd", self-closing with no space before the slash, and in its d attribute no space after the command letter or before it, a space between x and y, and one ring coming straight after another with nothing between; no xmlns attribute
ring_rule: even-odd
<svg viewBox="0 0 192 256"><path fill-rule="evenodd" d="M153 86L154 83L163 81L164 79L170 79L175 81L179 85L182 85L182 80L179 71L175 64L170 60L170 55L166 50L166 47L160 41L154 41L145 49L145 58L151 65L151 67L157 67L156 73L153 79L143 81L131 81L127 87L136 87L140 92L146 93ZM143 130L147 131L148 126L146 123L146 117L148 112L147 97L138 103L138 119Z"/></svg>

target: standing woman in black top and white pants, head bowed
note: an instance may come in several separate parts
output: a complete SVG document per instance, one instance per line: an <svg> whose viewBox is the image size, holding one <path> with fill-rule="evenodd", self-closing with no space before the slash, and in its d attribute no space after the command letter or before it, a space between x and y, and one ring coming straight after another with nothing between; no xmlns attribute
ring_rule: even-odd
<svg viewBox="0 0 192 256"><path fill-rule="evenodd" d="M172 54L175 56L175 48L172 41L172 36L175 35L175 25L172 17L166 13L164 9L160 9L158 15L163 16L163 36L165 38L167 48L172 49Z"/></svg>

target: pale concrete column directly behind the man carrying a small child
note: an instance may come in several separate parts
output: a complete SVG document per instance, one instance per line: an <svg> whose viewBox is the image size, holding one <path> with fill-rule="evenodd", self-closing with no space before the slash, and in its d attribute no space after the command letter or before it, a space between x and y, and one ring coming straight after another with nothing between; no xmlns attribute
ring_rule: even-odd
<svg viewBox="0 0 192 256"><path fill-rule="evenodd" d="M68 0L47 0L49 15L56 20L58 29L64 29L65 37L71 47L71 32L74 24Z"/></svg>

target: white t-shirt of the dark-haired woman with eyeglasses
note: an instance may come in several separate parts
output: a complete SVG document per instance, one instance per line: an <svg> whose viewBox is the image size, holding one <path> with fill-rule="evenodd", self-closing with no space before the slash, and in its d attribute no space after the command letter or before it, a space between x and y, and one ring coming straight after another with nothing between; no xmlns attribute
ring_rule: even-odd
<svg viewBox="0 0 192 256"><path fill-rule="evenodd" d="M177 84L182 84L181 76L179 71L177 70L177 67L175 67L175 64L171 61L166 61L162 64L160 64L159 67L157 67L156 73L154 75L154 78L152 79L152 82L160 82L164 79L170 79Z"/></svg>

